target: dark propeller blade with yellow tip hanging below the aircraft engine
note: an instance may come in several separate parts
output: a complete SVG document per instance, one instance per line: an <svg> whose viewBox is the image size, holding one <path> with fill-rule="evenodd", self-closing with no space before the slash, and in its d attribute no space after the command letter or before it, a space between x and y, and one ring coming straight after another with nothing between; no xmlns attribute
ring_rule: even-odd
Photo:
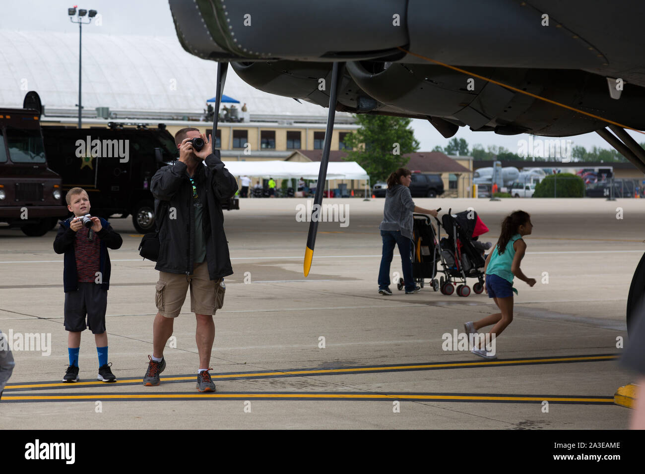
<svg viewBox="0 0 645 474"><path fill-rule="evenodd" d="M323 156L321 157L321 168L318 172L318 181L316 183L316 195L313 198L312 220L309 224L309 234L307 235L307 247L304 250L304 276L309 275L312 268L313 246L316 243L316 233L318 232L318 217L323 204L323 192L325 178L327 177L327 165L329 164L329 152L332 148L333 119L336 114L336 94L341 82L339 74L340 65L338 62L333 63L332 68L332 90L329 95L329 114L327 115L327 128L324 133ZM316 216L314 220L313 217Z"/></svg>

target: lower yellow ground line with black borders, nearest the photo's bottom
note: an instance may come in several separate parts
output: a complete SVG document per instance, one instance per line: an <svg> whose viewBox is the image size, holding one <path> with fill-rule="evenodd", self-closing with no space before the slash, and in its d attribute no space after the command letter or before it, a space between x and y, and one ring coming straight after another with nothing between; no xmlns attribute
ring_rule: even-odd
<svg viewBox="0 0 645 474"><path fill-rule="evenodd" d="M143 399L143 400L172 400L172 399L330 399L330 400L482 400L482 401L509 401L509 402L587 402L611 403L611 399L597 397L513 397L494 395L410 395L406 393L392 393L382 395L358 393L169 393L169 394L141 394L141 395L6 395L3 400L9 401L39 401L39 400L97 400L97 399Z"/></svg>

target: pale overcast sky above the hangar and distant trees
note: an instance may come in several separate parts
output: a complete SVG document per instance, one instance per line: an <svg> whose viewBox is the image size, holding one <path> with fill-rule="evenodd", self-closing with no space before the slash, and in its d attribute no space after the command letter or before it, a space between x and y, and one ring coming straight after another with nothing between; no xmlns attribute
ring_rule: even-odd
<svg viewBox="0 0 645 474"><path fill-rule="evenodd" d="M78 34L78 26L72 24L67 15L67 8L74 5L86 10L97 10L100 15L97 17L100 25L93 20L89 26L83 26L84 34L175 36L172 15L166 0L90 0L78 4L61 0L0 0L0 28ZM421 151L430 151L436 145L446 146L448 143L448 139L444 139L427 121L415 119L412 126L415 137L421 142ZM641 133L629 133L637 142L645 142L645 136ZM455 137L465 139L470 148L478 143L484 148L497 145L504 146L513 153L517 153L520 140L528 140L528 135L502 136L492 132L470 132L465 127L461 127ZM597 133L587 133L569 139L573 141L573 146L581 145L588 150L592 146L611 148Z"/></svg>

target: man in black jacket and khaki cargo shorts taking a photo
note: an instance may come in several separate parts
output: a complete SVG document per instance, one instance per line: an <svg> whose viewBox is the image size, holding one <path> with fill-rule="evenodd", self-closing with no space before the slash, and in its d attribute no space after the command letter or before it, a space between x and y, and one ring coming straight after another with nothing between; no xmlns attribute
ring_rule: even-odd
<svg viewBox="0 0 645 474"><path fill-rule="evenodd" d="M159 312L153 324L145 386L159 385L159 374L166 368L164 346L190 288L190 311L197 318L197 390L215 391L208 373L215 339L213 315L224 302L223 279L233 273L221 202L235 194L237 182L224 168L219 153L211 152L211 139L197 128L179 130L175 135L179 161L157 171L150 183L155 221L159 222L160 249L155 266L159 270L155 295Z"/></svg>

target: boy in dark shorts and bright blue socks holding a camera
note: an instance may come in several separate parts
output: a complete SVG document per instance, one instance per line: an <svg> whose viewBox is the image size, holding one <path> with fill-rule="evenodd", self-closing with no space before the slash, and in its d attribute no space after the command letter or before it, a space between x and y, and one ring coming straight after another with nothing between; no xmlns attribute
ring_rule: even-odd
<svg viewBox="0 0 645 474"><path fill-rule="evenodd" d="M120 248L123 239L112 230L108 221L90 216L90 198L83 188L70 189L65 200L74 217L59 222L60 228L54 241L54 252L64 253L64 326L68 331L70 365L63 382L79 380L81 331L86 327L94 333L99 356L97 380L115 382L116 377L110 370L112 363L108 364L108 334L105 330L110 288L108 248Z"/></svg>

